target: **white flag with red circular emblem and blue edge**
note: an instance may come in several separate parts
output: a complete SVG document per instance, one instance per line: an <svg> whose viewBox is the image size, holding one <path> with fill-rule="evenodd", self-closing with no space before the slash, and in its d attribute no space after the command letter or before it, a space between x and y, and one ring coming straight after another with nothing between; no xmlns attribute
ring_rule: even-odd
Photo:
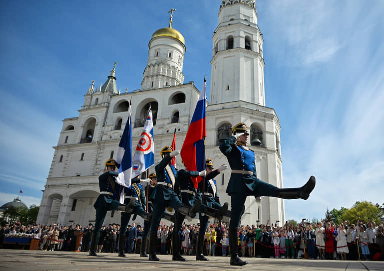
<svg viewBox="0 0 384 271"><path fill-rule="evenodd" d="M152 110L149 108L143 132L132 159L132 177L136 177L155 163L155 145L153 142Z"/></svg>

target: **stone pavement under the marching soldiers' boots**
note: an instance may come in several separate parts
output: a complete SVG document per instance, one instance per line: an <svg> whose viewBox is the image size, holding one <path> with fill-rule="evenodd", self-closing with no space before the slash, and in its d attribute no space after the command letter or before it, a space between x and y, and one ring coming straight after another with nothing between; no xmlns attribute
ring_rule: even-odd
<svg viewBox="0 0 384 271"><path fill-rule="evenodd" d="M186 262L172 261L172 256L158 255L160 262L150 262L138 254L99 253L90 257L82 252L47 252L29 250L0 250L0 270L14 271L93 271L93 270L140 270L140 271L384 271L384 262L371 261L327 261L243 258L248 265L233 267L229 257L210 257L208 262L197 262L194 256L187 256Z"/></svg>

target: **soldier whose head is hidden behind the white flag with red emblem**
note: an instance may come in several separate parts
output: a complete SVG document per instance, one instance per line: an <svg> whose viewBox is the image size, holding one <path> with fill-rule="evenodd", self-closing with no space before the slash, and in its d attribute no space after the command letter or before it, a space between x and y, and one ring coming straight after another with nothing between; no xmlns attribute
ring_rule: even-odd
<svg viewBox="0 0 384 271"><path fill-rule="evenodd" d="M130 202L134 203L133 206L133 214L138 215L144 219L144 221L148 220L148 213L145 212L145 206L147 204L145 199L145 194L143 190L143 185L140 184L142 182L149 182L149 179L140 180L140 179L132 179L131 186L124 187L124 204L129 204ZM140 202L139 202L140 199ZM132 213L121 212L121 228L120 228L120 236L119 236L119 257L125 257L124 248L125 248L125 233L127 231L127 226L129 220L131 218Z"/></svg>

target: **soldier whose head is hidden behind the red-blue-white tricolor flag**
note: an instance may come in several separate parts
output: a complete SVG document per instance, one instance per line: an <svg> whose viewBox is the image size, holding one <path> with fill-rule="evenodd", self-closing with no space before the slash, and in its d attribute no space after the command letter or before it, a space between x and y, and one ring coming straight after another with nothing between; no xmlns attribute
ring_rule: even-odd
<svg viewBox="0 0 384 271"><path fill-rule="evenodd" d="M176 193L180 195L181 202L185 204L186 206L193 206L196 201L201 201L201 195L198 190L195 189L195 186L193 184L193 181L191 177L197 177L197 176L205 176L206 171L187 171L185 169L180 169L177 172L176 175ZM228 204L226 204L224 207L220 206L220 210L210 208L205 204L201 204L201 207L199 209L199 212L203 212L211 217L218 218L221 220L223 215L227 212ZM185 215L181 214L180 212L176 212L176 222L175 222L175 229L172 234L172 260L173 261L186 261L185 258L183 258L180 255L180 241L179 241L179 231L181 228L181 225L183 224L183 221L185 219Z"/></svg>

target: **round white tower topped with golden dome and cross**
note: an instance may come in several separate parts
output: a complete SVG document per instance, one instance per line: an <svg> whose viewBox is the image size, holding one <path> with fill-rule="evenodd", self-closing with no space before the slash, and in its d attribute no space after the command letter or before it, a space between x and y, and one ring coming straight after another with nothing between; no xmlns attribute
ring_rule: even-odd
<svg viewBox="0 0 384 271"><path fill-rule="evenodd" d="M143 73L141 90L158 89L164 86L182 85L184 82L183 60L185 40L183 35L169 26L156 30L149 41L148 62Z"/></svg>

